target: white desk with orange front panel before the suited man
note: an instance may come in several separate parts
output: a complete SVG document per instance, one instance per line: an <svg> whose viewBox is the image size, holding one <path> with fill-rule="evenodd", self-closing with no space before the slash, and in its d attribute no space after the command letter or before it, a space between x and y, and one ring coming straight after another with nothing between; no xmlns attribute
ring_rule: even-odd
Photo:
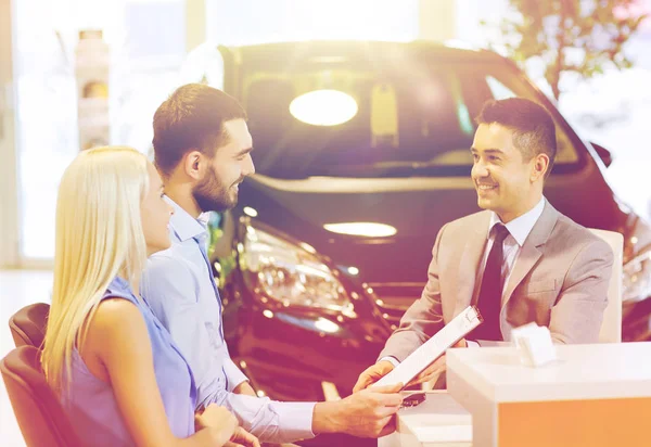
<svg viewBox="0 0 651 447"><path fill-rule="evenodd" d="M474 447L651 445L651 343L557 353L558 361L531 368L512 347L448 350L449 396L400 410L397 432L379 447L468 446L461 407L472 416ZM447 407L436 405L442 396Z"/></svg>

